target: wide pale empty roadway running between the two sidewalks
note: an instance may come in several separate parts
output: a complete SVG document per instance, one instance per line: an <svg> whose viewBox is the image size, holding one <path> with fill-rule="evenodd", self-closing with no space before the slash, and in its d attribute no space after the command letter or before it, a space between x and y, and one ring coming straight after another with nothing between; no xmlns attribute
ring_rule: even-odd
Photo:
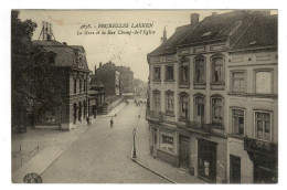
<svg viewBox="0 0 287 190"><path fill-rule="evenodd" d="M50 183L166 183L164 179L130 160L132 129L145 113L134 103L114 118L96 120L83 136L41 175ZM141 127L145 127L141 125Z"/></svg>

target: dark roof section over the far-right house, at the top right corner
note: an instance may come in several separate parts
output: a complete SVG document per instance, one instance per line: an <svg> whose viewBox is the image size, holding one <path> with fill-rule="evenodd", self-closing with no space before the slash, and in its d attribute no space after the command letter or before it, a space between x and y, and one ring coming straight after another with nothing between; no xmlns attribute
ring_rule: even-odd
<svg viewBox="0 0 287 190"><path fill-rule="evenodd" d="M256 17L252 25L238 38L232 49L248 49L261 46L277 46L278 19L277 15Z"/></svg>

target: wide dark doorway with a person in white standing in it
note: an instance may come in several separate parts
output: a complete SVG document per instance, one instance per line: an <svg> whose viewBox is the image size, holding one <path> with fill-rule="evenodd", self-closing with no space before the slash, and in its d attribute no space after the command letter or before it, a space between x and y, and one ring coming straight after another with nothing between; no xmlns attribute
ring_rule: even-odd
<svg viewBox="0 0 287 190"><path fill-rule="evenodd" d="M209 182L216 182L216 144L199 139L199 177Z"/></svg>

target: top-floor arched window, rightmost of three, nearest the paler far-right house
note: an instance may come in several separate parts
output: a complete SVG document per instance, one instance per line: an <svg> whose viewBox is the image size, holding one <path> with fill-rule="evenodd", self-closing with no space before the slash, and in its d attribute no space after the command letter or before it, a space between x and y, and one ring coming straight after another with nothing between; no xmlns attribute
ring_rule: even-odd
<svg viewBox="0 0 287 190"><path fill-rule="evenodd" d="M212 59L212 82L214 83L224 82L223 57Z"/></svg>

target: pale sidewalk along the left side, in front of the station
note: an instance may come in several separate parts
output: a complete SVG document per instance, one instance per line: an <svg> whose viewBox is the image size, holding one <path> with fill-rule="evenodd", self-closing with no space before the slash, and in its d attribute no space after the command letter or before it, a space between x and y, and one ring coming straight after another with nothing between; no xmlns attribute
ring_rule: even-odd
<svg viewBox="0 0 287 190"><path fill-rule="evenodd" d="M102 117L113 117L118 114L125 103L119 104L108 115ZM97 120L93 119L93 124ZM55 128L40 127L39 129L29 129L26 134L14 134L12 136L12 159L17 159L21 154L26 154L34 147L39 146L39 152L29 161L23 162L22 167L17 166L12 171L12 182L23 183L25 175L35 172L41 175L57 157L66 151L88 129L86 123L83 122L70 131L57 130ZM21 145L21 152L19 147ZM20 163L20 160L12 160L13 165ZM45 181L43 181L45 182Z"/></svg>

